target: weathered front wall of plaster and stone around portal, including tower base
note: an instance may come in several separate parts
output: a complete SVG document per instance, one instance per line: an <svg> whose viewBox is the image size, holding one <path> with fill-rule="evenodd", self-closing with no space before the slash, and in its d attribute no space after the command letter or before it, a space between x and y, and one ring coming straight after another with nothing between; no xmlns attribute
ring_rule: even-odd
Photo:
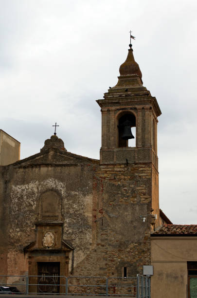
<svg viewBox="0 0 197 298"><path fill-rule="evenodd" d="M1 274L28 272L23 250L36 239L46 190L62 199L62 240L74 247L70 275L116 277L127 267L127 276L136 276L150 264L150 219L140 215L150 214L151 164L11 165L1 174Z"/></svg>

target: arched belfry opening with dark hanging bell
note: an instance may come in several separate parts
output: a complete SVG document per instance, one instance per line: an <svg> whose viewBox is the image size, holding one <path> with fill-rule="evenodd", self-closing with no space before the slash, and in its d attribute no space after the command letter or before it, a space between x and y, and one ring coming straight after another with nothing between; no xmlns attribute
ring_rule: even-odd
<svg viewBox="0 0 197 298"><path fill-rule="evenodd" d="M125 113L118 120L118 147L135 147L135 115L131 112Z"/></svg>

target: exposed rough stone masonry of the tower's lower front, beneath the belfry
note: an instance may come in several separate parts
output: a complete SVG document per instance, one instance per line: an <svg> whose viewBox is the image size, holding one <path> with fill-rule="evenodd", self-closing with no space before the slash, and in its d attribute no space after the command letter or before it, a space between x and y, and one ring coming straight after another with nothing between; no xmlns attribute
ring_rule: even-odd
<svg viewBox="0 0 197 298"><path fill-rule="evenodd" d="M94 188L98 202L93 207L96 224L94 248L74 268L74 275L128 276L143 273L150 264L151 165L102 165Z"/></svg>

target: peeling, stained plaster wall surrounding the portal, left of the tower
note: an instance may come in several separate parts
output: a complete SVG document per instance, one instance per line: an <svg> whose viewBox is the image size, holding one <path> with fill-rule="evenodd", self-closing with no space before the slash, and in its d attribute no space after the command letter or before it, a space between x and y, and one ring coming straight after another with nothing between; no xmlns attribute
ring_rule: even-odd
<svg viewBox="0 0 197 298"><path fill-rule="evenodd" d="M2 226L1 235L9 235L2 250L7 249L8 256L12 255L12 260L15 260L11 263L8 258L7 274L13 274L13 270L16 274L28 271L27 262L21 261L21 258L24 259L23 248L35 241L39 198L45 191L57 192L62 200L62 240L75 248L74 266L90 252L93 167L78 164L68 167L2 168L4 185L0 195L1 214L4 215L2 222L6 220L6 223Z"/></svg>

